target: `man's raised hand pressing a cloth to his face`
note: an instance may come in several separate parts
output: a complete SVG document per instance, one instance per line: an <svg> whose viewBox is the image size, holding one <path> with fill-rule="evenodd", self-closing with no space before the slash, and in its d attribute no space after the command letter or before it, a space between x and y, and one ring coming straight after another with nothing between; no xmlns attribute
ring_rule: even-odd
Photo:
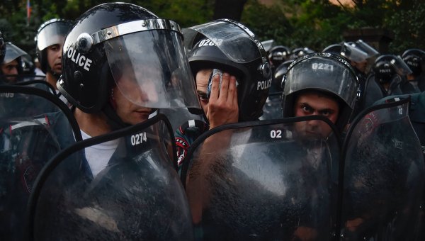
<svg viewBox="0 0 425 241"><path fill-rule="evenodd" d="M220 76L212 77L212 89L206 113L210 129L228 123L237 123L239 107L237 104L236 77L223 73L220 86Z"/></svg>

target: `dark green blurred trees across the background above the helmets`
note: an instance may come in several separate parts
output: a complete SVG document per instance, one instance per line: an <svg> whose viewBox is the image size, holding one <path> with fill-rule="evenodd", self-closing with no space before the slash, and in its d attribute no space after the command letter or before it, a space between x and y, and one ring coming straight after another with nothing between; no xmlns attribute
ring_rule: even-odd
<svg viewBox="0 0 425 241"><path fill-rule="evenodd" d="M34 37L50 18L73 20L99 0L2 0L0 30L34 56ZM423 0L133 0L161 18L177 21L182 28L233 18L251 28L260 40L276 40L288 47L320 51L344 40L344 31L355 28L386 28L395 33L390 52L401 55L410 47L425 49L425 3ZM343 4L344 3L344 4ZM239 19L240 17L240 19Z"/></svg>

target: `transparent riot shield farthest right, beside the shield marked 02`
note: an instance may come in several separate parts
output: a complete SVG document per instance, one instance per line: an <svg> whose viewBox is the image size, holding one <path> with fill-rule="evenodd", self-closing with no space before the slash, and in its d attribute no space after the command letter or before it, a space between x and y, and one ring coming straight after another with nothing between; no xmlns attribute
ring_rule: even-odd
<svg viewBox="0 0 425 241"><path fill-rule="evenodd" d="M425 170L408 100L363 111L343 150L341 240L414 240Z"/></svg>

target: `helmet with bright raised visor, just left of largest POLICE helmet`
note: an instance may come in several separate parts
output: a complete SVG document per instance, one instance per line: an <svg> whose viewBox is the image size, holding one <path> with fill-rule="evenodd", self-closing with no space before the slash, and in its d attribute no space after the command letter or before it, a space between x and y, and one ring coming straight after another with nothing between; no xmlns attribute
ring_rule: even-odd
<svg viewBox="0 0 425 241"><path fill-rule="evenodd" d="M61 18L53 18L42 23L40 28L38 28L37 35L35 35L34 40L42 72L47 73L48 71L51 71L47 61L47 47L51 45L62 46L71 27L72 21ZM57 74L57 77L60 75L60 73L52 74Z"/></svg>

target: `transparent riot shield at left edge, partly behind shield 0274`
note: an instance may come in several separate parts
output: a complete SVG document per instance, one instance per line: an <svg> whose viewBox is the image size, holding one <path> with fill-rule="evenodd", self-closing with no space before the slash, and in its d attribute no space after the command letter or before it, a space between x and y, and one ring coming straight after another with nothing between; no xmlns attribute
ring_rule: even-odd
<svg viewBox="0 0 425 241"><path fill-rule="evenodd" d="M38 173L81 133L67 106L46 91L4 85L0 100L0 237L22 240Z"/></svg>

